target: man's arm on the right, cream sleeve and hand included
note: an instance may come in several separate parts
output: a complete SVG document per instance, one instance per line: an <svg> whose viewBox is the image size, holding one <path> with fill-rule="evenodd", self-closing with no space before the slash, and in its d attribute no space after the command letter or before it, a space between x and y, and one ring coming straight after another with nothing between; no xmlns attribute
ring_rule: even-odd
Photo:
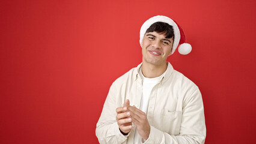
<svg viewBox="0 0 256 144"><path fill-rule="evenodd" d="M157 130L148 124L144 112L136 107L127 107L132 116L132 122L136 125L144 143L204 143L206 125L204 122L203 100L199 89L196 89L190 97L184 100L183 116L178 136L172 136Z"/></svg>

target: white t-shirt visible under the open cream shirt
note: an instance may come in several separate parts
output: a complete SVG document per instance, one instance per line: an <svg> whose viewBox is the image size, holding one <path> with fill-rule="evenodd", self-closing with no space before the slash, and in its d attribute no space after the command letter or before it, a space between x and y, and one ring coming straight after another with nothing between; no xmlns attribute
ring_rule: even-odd
<svg viewBox="0 0 256 144"><path fill-rule="evenodd" d="M166 72L165 72L166 73ZM147 109L148 109L148 100L150 98L150 93L154 86L160 82L160 80L165 76L165 73L163 73L159 77L154 78L147 78L144 77L141 71L141 68L139 68L139 75L142 79L142 97L141 97L141 104L139 106L139 109L142 110L147 115ZM137 107L138 108L138 107ZM139 144L141 143L141 136L139 136L139 133L137 131L137 128L135 130L135 136L134 136L134 143Z"/></svg>

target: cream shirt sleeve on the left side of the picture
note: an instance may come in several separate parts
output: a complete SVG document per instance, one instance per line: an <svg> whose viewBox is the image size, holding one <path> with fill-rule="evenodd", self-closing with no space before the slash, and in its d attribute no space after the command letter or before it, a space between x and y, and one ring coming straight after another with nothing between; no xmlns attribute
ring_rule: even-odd
<svg viewBox="0 0 256 144"><path fill-rule="evenodd" d="M124 136L118 127L116 118L115 85L112 84L103 106L102 114L97 122L96 136L100 143L124 143L127 136ZM121 104L120 104L121 105Z"/></svg>

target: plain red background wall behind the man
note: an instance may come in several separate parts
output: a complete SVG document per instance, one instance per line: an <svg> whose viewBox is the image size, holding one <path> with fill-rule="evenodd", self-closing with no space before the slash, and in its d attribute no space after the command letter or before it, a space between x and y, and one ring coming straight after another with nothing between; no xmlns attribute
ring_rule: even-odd
<svg viewBox="0 0 256 144"><path fill-rule="evenodd" d="M255 142L255 1L1 1L0 143L98 143L111 83L141 62L139 29L175 19L168 61L203 94L206 143Z"/></svg>

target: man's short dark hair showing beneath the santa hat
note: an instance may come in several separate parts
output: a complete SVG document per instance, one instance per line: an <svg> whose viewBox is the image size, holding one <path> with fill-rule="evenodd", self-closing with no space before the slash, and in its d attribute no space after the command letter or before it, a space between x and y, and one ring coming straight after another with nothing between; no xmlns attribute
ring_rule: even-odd
<svg viewBox="0 0 256 144"><path fill-rule="evenodd" d="M153 23L146 31L147 32L157 32L159 34L164 34L165 38L172 38L174 39L174 30L171 25L165 22L155 22Z"/></svg>

